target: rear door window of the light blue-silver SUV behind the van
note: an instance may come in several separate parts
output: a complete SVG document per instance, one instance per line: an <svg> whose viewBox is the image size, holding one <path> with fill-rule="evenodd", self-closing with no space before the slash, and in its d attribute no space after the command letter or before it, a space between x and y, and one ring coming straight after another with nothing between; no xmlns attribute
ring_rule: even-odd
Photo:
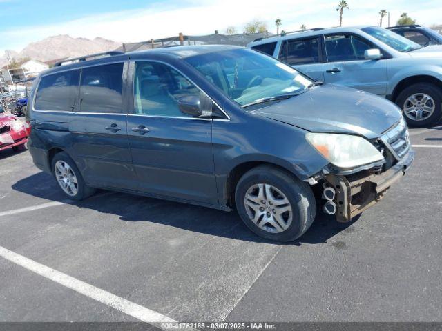
<svg viewBox="0 0 442 331"><path fill-rule="evenodd" d="M292 66L296 64L318 63L318 38L284 41L279 59Z"/></svg>

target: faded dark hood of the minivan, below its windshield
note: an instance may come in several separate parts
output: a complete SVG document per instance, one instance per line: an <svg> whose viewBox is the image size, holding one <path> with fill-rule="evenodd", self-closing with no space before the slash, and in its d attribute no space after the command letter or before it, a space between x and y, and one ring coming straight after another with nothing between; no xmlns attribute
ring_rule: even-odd
<svg viewBox="0 0 442 331"><path fill-rule="evenodd" d="M366 139L380 137L402 117L401 110L387 99L330 84L251 113L310 132L357 134Z"/></svg>

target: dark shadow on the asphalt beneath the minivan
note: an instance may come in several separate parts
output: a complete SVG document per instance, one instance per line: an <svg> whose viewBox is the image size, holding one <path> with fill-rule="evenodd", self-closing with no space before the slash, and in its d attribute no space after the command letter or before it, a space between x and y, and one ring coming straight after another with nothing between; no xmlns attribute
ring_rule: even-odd
<svg viewBox="0 0 442 331"><path fill-rule="evenodd" d="M12 185L12 189L52 201L64 201L65 199L52 176L44 172L39 172L17 181L17 183ZM242 223L236 212L222 212L186 203L107 191L99 191L95 196L84 201L68 203L79 208L115 214L122 221L148 221L218 237L280 245L326 243L328 239L354 223L350 222L341 225L334 221L332 217L318 212L313 225L302 237L292 243L275 243L253 234Z"/></svg>

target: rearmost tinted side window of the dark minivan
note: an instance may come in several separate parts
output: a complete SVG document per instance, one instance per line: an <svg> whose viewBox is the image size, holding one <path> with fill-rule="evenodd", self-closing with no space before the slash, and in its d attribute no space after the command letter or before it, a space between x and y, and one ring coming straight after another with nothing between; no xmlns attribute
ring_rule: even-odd
<svg viewBox="0 0 442 331"><path fill-rule="evenodd" d="M78 106L80 70L59 72L41 77L35 97L35 109L74 111Z"/></svg>

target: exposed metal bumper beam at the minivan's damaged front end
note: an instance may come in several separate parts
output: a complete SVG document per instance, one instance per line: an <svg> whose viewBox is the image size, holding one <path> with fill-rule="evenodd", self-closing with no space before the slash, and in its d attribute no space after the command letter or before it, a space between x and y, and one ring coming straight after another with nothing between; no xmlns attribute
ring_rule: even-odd
<svg viewBox="0 0 442 331"><path fill-rule="evenodd" d="M385 191L410 169L413 159L414 152L410 150L401 161L381 174L352 177L328 174L325 181L336 190L336 220L341 223L349 222L380 201Z"/></svg>

